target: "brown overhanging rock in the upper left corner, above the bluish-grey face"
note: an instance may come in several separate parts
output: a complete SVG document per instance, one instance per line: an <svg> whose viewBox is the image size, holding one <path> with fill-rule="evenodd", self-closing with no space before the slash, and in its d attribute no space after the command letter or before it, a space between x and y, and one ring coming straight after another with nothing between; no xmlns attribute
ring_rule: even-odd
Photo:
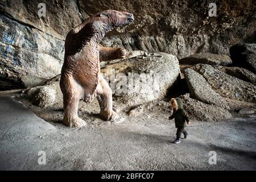
<svg viewBox="0 0 256 182"><path fill-rule="evenodd" d="M42 8L39 3L46 5L46 15L39 16ZM79 1L4 1L0 8L2 14L16 20L27 27L36 28L52 37L65 39L65 35L81 23L81 18L88 17L79 12Z"/></svg>

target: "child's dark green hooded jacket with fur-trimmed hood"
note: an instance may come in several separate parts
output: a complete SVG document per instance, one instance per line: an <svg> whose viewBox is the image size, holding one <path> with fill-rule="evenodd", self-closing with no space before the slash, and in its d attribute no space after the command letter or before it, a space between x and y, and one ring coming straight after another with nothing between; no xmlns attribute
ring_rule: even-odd
<svg viewBox="0 0 256 182"><path fill-rule="evenodd" d="M169 118L175 119L176 128L186 127L187 122L189 122L188 114L183 109L183 102L181 98L175 98L175 100L177 101L177 110L174 109L174 113Z"/></svg>

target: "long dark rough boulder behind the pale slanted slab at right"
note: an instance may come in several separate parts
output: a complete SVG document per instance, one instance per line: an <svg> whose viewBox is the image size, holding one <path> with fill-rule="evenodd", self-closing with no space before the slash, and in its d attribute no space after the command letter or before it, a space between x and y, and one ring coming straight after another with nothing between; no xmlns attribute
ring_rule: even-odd
<svg viewBox="0 0 256 182"><path fill-rule="evenodd" d="M199 72L222 97L256 103L255 85L227 75L208 64L199 64L193 69Z"/></svg>

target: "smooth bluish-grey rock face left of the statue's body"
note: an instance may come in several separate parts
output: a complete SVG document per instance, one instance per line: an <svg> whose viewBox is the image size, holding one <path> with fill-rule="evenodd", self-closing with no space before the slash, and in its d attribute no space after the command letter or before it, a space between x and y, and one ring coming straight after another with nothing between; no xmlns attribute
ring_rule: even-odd
<svg viewBox="0 0 256 182"><path fill-rule="evenodd" d="M60 73L64 40L0 15L0 90L44 84Z"/></svg>

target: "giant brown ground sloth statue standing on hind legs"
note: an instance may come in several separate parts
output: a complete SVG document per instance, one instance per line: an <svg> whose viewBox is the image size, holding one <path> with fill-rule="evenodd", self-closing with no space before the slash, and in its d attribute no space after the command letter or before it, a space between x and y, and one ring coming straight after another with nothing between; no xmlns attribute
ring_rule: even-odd
<svg viewBox="0 0 256 182"><path fill-rule="evenodd" d="M90 16L68 33L60 79L65 125L84 126L86 123L77 115L79 101L92 102L94 96L98 99L104 119L117 118L112 109L112 90L100 74L100 61L121 59L126 51L101 47L99 43L107 32L133 21L133 14L106 10Z"/></svg>

